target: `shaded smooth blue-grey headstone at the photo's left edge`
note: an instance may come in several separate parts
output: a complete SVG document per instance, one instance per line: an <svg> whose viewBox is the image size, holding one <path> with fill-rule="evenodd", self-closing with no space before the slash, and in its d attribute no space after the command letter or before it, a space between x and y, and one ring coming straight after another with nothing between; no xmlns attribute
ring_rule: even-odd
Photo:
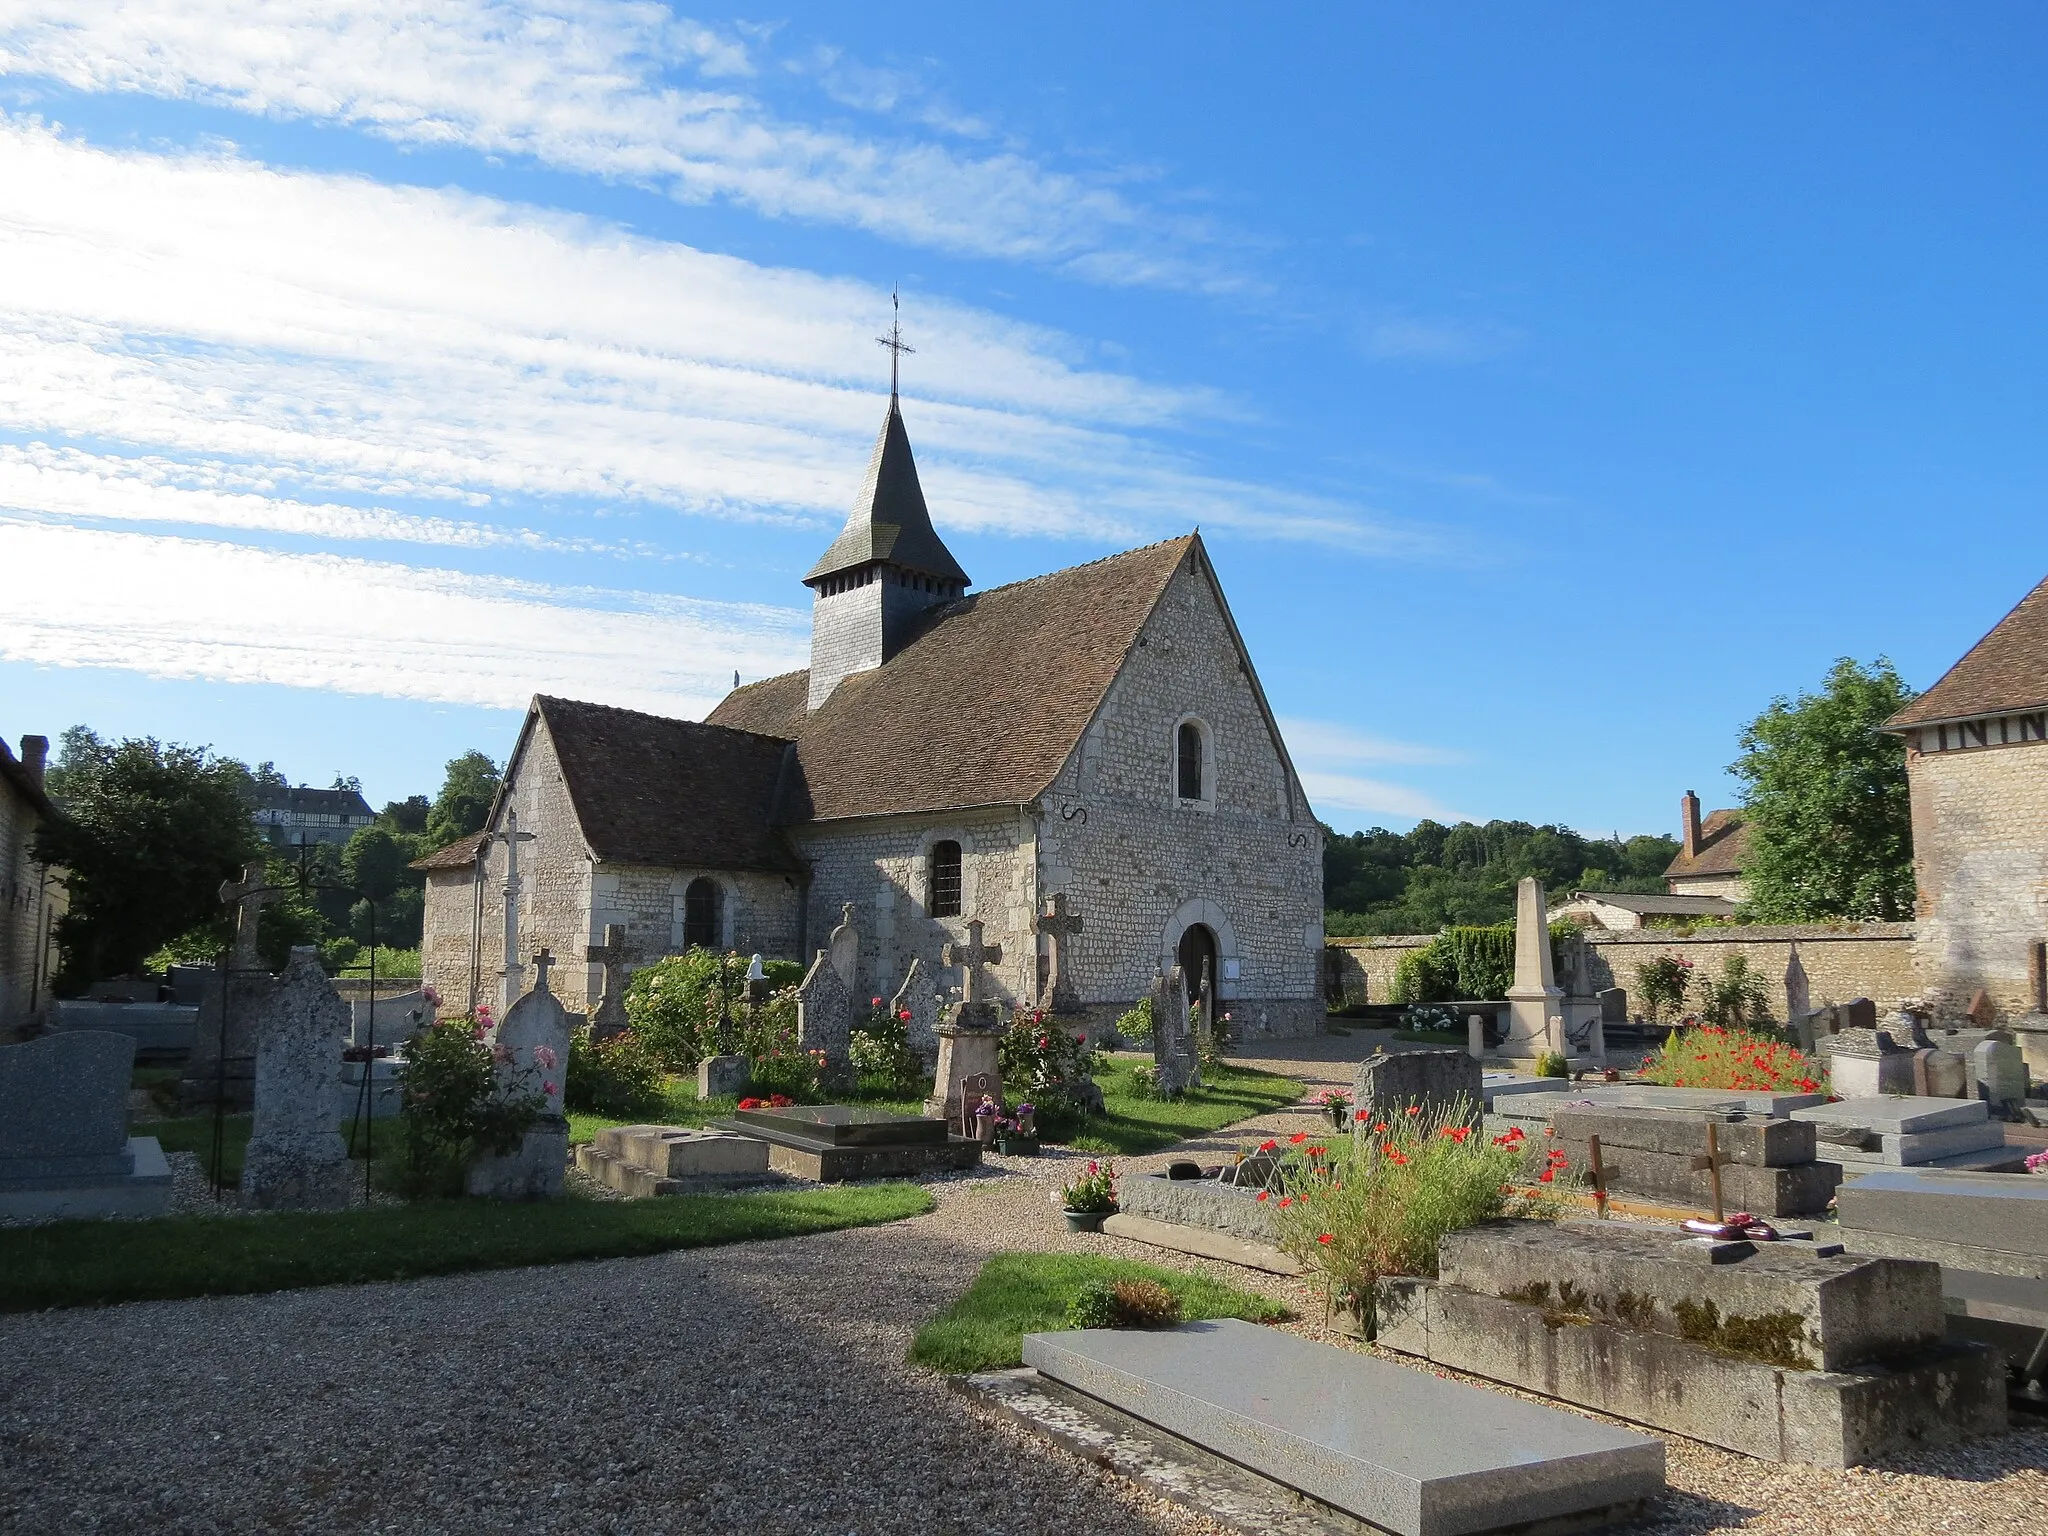
<svg viewBox="0 0 2048 1536"><path fill-rule="evenodd" d="M127 1153L133 1065L135 1042L111 1030L70 1030L0 1047L0 1167L125 1171L117 1163Z"/></svg>

